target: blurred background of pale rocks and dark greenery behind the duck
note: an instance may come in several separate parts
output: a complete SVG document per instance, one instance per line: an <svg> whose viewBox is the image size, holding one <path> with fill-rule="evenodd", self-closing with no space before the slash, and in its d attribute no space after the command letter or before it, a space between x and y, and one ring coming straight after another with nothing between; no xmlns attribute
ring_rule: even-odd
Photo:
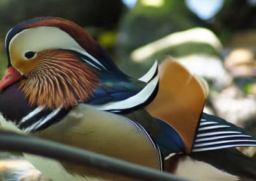
<svg viewBox="0 0 256 181"><path fill-rule="evenodd" d="M0 0L0 77L6 33L40 16L81 25L130 76L143 75L156 59L175 57L209 83L205 112L256 133L255 0ZM243 152L255 156L253 148ZM30 170L24 180L47 180L22 157L0 154L0 180L13 177L17 167L17 177Z"/></svg>

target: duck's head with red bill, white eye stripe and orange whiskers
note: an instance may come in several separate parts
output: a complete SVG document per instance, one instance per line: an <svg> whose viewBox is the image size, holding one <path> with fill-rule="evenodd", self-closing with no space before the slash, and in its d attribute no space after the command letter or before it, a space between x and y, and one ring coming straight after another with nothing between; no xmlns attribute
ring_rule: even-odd
<svg viewBox="0 0 256 181"><path fill-rule="evenodd" d="M92 36L63 18L21 22L5 44L8 69L0 89L19 81L31 106L69 108L92 96L102 71L125 76Z"/></svg>

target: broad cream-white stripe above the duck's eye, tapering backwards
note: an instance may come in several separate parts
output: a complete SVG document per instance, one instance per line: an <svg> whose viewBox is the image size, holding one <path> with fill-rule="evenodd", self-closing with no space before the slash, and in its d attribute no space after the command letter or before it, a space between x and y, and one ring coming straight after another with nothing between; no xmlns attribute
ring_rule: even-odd
<svg viewBox="0 0 256 181"><path fill-rule="evenodd" d="M28 50L33 52L41 52L49 49L73 50L89 57L95 62L95 65L99 65L103 69L106 69L100 61L86 52L86 50L84 50L84 48L81 47L70 34L58 27L40 26L24 29L13 36L8 48L10 54L12 53L12 49L16 55L22 57L24 57L24 54L28 52Z"/></svg>

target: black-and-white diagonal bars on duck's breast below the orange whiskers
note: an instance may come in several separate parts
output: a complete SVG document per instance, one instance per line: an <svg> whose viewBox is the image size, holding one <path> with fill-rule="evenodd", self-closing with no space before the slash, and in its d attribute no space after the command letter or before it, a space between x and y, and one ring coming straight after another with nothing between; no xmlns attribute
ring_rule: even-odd
<svg viewBox="0 0 256 181"><path fill-rule="evenodd" d="M56 110L49 110L49 108L38 107L32 112L28 113L20 120L17 127L22 129L25 133L33 133L45 129L52 124L61 120L68 110L58 108Z"/></svg>

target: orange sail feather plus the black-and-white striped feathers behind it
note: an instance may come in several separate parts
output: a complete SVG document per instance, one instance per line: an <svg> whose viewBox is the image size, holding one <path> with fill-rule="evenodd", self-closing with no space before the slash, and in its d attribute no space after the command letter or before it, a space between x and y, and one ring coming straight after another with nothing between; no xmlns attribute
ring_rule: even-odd
<svg viewBox="0 0 256 181"><path fill-rule="evenodd" d="M191 75L178 62L170 60L159 66L159 77L157 96L146 109L179 133L185 146L181 152L255 146L255 136L252 134L226 120L202 112L208 94L204 80Z"/></svg>

